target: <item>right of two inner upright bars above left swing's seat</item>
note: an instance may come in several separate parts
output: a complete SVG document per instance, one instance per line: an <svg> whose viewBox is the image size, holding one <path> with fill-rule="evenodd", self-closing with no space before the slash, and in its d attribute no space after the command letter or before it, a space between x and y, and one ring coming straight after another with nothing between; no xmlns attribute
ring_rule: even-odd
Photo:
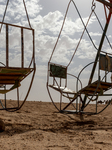
<svg viewBox="0 0 112 150"><path fill-rule="evenodd" d="M23 28L21 28L21 67L24 68L24 39Z"/></svg>

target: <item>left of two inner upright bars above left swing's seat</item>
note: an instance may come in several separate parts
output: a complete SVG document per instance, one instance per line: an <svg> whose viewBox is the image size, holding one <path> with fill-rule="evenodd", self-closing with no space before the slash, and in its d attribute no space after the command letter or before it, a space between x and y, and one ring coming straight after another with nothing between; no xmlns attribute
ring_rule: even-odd
<svg viewBox="0 0 112 150"><path fill-rule="evenodd" d="M9 36L8 36L8 25L6 25L6 67L9 66Z"/></svg>

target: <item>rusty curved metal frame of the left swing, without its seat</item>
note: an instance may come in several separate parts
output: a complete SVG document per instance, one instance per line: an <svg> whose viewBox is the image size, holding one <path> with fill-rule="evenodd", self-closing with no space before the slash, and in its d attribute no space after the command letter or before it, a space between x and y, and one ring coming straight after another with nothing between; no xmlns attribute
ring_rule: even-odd
<svg viewBox="0 0 112 150"><path fill-rule="evenodd" d="M29 83L29 88L27 90L27 93L26 93L26 96L24 98L24 100L22 101L21 104L19 104L19 88L17 87L17 101L18 101L18 107L11 107L11 108L8 108L6 106L6 93L4 94L5 95L5 106L3 105L2 101L0 100L0 104L2 106L2 108L0 110L6 110L6 111L9 111L9 112L14 112L14 111L17 111L19 110L25 103L29 93L30 93L30 90L31 90L31 87L32 87L32 83L33 83L33 80L34 80L34 76L35 76L35 72L36 72L36 64L35 64L35 32L34 32L34 29L32 29L31 27L31 24L30 24L30 20L29 20L29 16L28 16L28 13L27 13L27 9L26 9L26 5L25 5L25 1L23 0L23 4L24 4L24 8L25 8L25 12L26 12L26 16L27 16L27 20L28 20L28 24L29 24L29 27L23 27L23 26L19 26L19 25L14 25L14 24L9 24L9 23L5 23L4 22L4 18L5 18L5 15L6 15L6 11L7 11L7 7L8 7L8 3L9 3L9 0L7 0L7 3L6 3L6 8L5 8L5 12L4 12L4 15L3 15L3 19L2 19L2 22L0 22L1 24L1 27L0 27L0 32L2 30L2 26L3 24L6 25L6 65L4 65L2 62L0 62L4 68L7 68L7 69L10 69L9 67L9 64L8 64L8 26L12 26L12 27L17 27L17 28L20 28L21 29L21 67L18 67L17 69L24 69L24 43L23 43L23 29L27 29L27 30L31 30L32 31L32 43L33 43L33 51L32 51L32 57L31 57L31 61L30 61L30 64L29 66L27 67L28 69L30 69L30 71L24 75L24 77L20 80L20 82L22 80L24 80L25 77L27 77L30 73L32 73L32 77L31 77L31 81ZM32 65L32 67L31 67ZM13 69L14 67L11 67L11 69ZM25 69L27 69L25 68ZM6 86L6 83L3 84L4 85L4 88Z"/></svg>

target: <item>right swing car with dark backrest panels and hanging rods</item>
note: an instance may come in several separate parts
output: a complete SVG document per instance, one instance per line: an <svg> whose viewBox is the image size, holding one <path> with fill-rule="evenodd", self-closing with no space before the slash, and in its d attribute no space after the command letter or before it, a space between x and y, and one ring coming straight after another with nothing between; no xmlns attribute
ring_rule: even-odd
<svg viewBox="0 0 112 150"><path fill-rule="evenodd" d="M108 100L108 103L106 103L104 106L101 107L101 105L99 105L100 102L103 103L103 101L99 100L99 99L101 99L102 97L111 98L111 96L112 96L112 93L110 92L110 90L112 89L112 83L111 83L111 80L109 80L110 78L108 78L108 75L110 75L112 72L112 54L102 51L102 46L103 46L105 39L107 40L110 48L112 49L111 43L109 42L109 39L106 35L108 25L109 25L110 19L111 19L111 14L112 14L112 0L108 0L108 1L96 0L96 1L102 3L104 6L104 11L105 11L105 16L106 16L105 27L104 28L102 27L101 22L97 16L97 14L95 13L96 3L94 2L94 0L92 1L91 13L90 13L90 16L88 17L86 24L84 23L75 2L73 0L70 0L68 3L68 6L67 6L67 10L66 10L66 13L64 16L61 30L59 32L57 41L55 43L54 49L52 51L52 54L51 54L49 62L48 62L46 86L47 86L48 94L49 94L49 97L50 97L52 103L54 104L55 108L60 113L72 113L72 114L76 113L76 114L96 115L96 114L99 114L102 111L104 111L111 103L111 99L110 99L110 100ZM70 59L69 64L64 66L61 64L53 63L51 60L52 60L53 54L56 50L56 46L59 42L60 35L63 30L63 26L64 26L66 16L67 16L67 13L69 10L69 6L71 3L74 5L74 7L79 15L79 18L84 26L84 30L83 30L82 35L76 45L75 51ZM95 15L95 17L101 27L101 30L103 32L98 48L94 44L94 42L90 36L90 33L88 32L88 29L87 29L89 21L91 19L91 16L93 14ZM70 66L70 64L76 54L76 51L78 50L78 47L80 45L80 42L81 42L82 37L85 32L87 33L88 37L90 38L90 41L92 42L92 45L94 46L94 48L97 50L96 58L93 62L90 62L85 67L83 67L82 70L79 72L78 76L75 76L73 74L68 73L68 67ZM82 72L89 66L92 66L91 74L90 74L90 77L88 80L88 84L83 87L80 76L81 76ZM102 76L102 72L104 72L103 76ZM97 80L93 81L93 77L94 77L95 73L97 73ZM74 89L71 90L68 88L68 85L69 85L68 76L72 76L72 77L74 77L74 79L76 79L76 83L73 80L73 83L76 85L75 90ZM80 89L79 89L79 86L80 86ZM56 93L55 96L53 95L54 93ZM57 100L58 99L56 97L57 94L59 94L59 100ZM55 100L55 97L56 97L56 100ZM67 101L65 101L65 99ZM94 109L92 109L91 111L88 111L87 108L91 104L94 106Z"/></svg>

